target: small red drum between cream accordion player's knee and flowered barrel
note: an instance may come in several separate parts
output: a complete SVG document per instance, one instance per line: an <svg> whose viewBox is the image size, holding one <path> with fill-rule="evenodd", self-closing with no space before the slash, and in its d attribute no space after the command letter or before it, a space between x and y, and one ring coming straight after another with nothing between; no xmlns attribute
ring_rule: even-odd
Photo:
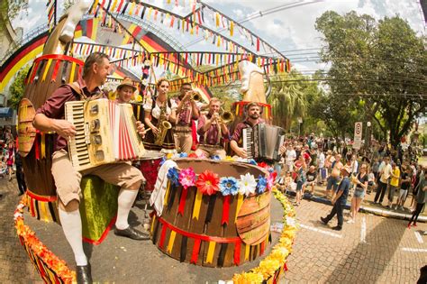
<svg viewBox="0 0 427 284"><path fill-rule="evenodd" d="M163 157L165 157L165 154L159 151L146 151L144 158L140 159L140 169L146 180L144 185L145 192L154 190L160 162Z"/></svg>

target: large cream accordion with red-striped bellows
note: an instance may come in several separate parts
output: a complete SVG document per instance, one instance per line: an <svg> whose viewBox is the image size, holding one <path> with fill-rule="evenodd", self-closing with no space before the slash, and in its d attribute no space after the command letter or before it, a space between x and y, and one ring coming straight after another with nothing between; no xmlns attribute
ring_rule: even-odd
<svg viewBox="0 0 427 284"><path fill-rule="evenodd" d="M76 126L76 136L68 141L68 153L77 170L136 160L144 154L132 105L106 98L67 102L65 119Z"/></svg>

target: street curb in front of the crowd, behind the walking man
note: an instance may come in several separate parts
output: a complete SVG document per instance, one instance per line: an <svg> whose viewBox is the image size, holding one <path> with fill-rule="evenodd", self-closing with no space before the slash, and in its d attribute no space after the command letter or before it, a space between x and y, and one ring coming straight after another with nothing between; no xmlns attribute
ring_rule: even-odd
<svg viewBox="0 0 427 284"><path fill-rule="evenodd" d="M286 192L286 195L292 196L292 197L295 197L295 194L296 193L294 191ZM303 198L305 200L310 200L310 201L314 201L317 203L323 203L324 205L332 206L331 200L323 198L323 197L309 196L307 194L304 194ZM351 205L349 203L346 203L344 208L347 210L350 210L350 206ZM411 220L411 217L412 217L412 214L403 214L403 213L398 213L398 212L385 210L385 209L377 209L377 208L373 208L373 207L369 207L369 206L360 206L359 212L370 213L373 215L379 215L379 216L383 216L383 217L387 217L387 218L395 218L395 219L401 219L401 220L407 220L407 221ZM418 216L417 222L426 223L427 217Z"/></svg>

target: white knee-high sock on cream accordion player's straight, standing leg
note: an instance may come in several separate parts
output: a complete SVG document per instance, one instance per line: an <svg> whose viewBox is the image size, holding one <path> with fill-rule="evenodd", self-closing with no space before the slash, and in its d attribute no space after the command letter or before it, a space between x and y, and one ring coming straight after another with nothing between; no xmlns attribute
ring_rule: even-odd
<svg viewBox="0 0 427 284"><path fill-rule="evenodd" d="M59 219L65 237L74 252L74 258L78 266L87 265L85 251L82 242L82 221L80 211L67 212L59 208Z"/></svg>

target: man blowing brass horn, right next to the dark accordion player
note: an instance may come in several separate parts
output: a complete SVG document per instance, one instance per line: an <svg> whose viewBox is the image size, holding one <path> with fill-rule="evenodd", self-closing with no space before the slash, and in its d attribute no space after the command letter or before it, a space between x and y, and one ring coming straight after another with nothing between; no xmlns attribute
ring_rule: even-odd
<svg viewBox="0 0 427 284"><path fill-rule="evenodd" d="M209 102L209 113L201 115L197 125L197 133L200 135L200 142L197 155L203 154L205 157L219 156L225 158L224 142L229 140L230 133L227 125L219 115L221 101L213 97Z"/></svg>

